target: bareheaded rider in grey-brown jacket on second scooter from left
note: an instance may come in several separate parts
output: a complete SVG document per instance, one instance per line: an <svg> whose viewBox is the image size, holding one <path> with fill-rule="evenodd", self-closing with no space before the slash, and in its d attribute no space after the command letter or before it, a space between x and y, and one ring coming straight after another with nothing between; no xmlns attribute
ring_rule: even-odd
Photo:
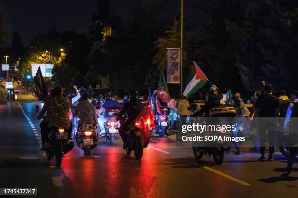
<svg viewBox="0 0 298 198"><path fill-rule="evenodd" d="M95 125L96 128L98 126L98 119L96 115L96 111L94 106L88 101L89 96L84 94L82 96L82 101L78 103L75 108L74 116L79 116L80 121L78 124L78 129L82 127L84 122L90 122L91 124Z"/></svg>

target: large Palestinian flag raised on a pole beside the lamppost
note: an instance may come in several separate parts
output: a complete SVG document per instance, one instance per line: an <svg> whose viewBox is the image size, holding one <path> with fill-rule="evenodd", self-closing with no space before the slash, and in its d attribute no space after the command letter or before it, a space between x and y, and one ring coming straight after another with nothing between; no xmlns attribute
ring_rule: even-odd
<svg viewBox="0 0 298 198"><path fill-rule="evenodd" d="M206 82L208 82L208 78L205 76L203 71L199 68L199 66L193 62L196 69L196 74L186 86L183 95L188 98L192 94L196 93L199 89L201 89Z"/></svg>

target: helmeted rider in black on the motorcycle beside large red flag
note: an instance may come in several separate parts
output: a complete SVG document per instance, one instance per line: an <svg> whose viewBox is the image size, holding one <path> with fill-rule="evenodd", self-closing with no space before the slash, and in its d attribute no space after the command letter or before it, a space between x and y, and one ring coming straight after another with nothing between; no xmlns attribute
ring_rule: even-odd
<svg viewBox="0 0 298 198"><path fill-rule="evenodd" d="M126 136L125 132L128 130L128 125L130 125L140 114L142 109L144 108L143 104L139 101L139 92L136 90L132 90L129 94L130 101L125 103L121 112L119 113L117 120L120 120L121 117L127 113L128 120L121 125L119 128L119 134L123 141L123 149L127 148L126 145Z"/></svg>

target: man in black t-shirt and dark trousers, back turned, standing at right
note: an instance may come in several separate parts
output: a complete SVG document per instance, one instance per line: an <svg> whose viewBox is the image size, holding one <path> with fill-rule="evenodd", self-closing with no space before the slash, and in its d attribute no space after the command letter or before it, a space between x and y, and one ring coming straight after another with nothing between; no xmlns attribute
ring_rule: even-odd
<svg viewBox="0 0 298 198"><path fill-rule="evenodd" d="M269 156L268 161L272 161L272 155L275 147L275 131L274 127L278 125L279 117L279 99L272 94L272 85L267 83L264 85L264 94L256 101L255 117L259 117L257 122L260 126L260 154L259 161L265 158L265 136L268 131L269 137ZM260 119L261 118L261 119Z"/></svg>

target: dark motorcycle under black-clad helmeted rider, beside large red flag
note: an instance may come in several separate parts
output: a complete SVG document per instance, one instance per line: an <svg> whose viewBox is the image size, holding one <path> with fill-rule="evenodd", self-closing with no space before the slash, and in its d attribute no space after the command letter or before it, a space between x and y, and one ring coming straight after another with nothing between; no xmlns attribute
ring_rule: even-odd
<svg viewBox="0 0 298 198"><path fill-rule="evenodd" d="M126 119L122 118L120 120L120 124L123 125ZM149 144L145 143L143 146L142 139L141 139L141 122L135 121L132 124L128 125L128 130L125 132L126 135L126 154L130 155L133 151L134 157L136 160L140 160L143 157L143 148L146 148Z"/></svg>

